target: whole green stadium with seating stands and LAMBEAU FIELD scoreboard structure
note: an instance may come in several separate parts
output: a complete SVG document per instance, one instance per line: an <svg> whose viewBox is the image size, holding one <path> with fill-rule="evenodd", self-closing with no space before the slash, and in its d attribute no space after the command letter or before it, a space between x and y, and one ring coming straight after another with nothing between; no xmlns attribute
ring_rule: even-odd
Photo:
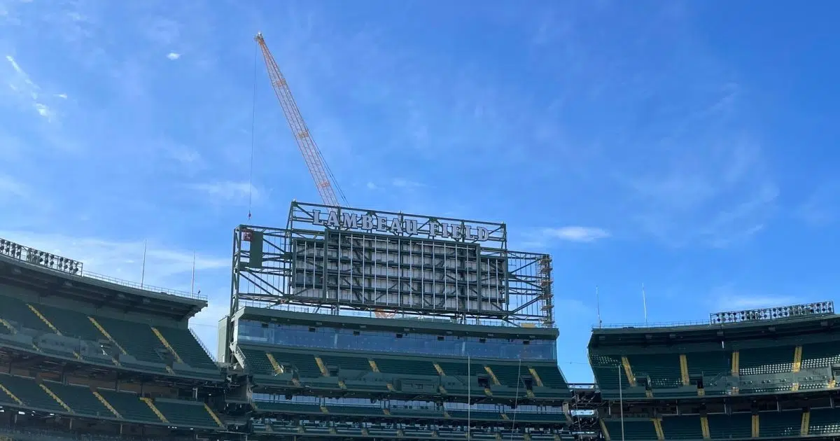
<svg viewBox="0 0 840 441"><path fill-rule="evenodd" d="M840 437L832 302L599 326L580 385L504 224L292 202L233 254L214 360L205 297L0 239L0 440Z"/></svg>

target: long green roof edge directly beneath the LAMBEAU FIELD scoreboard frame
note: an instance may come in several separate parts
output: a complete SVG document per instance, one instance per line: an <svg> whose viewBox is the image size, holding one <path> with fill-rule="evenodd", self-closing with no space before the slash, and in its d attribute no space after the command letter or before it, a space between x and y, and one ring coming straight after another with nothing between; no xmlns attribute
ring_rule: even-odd
<svg viewBox="0 0 840 441"><path fill-rule="evenodd" d="M394 331L405 331L409 329L414 332L451 332L461 335L486 335L506 336L512 339L557 339L559 330L557 328L519 328L507 326L491 326L461 323L443 323L439 321L423 321L407 318L367 318L354 316L337 316L330 314L318 314L314 312L281 311L263 307L242 307L234 314L235 320L256 320L256 321L280 321L287 323L313 322L332 324L336 327L346 328L367 328L383 329Z"/></svg>

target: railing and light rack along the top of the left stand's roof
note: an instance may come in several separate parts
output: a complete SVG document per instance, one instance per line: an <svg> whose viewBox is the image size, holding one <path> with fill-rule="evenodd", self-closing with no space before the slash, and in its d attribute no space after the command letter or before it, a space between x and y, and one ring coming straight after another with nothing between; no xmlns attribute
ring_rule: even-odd
<svg viewBox="0 0 840 441"><path fill-rule="evenodd" d="M162 294L169 294L176 297L192 298L197 300L207 301L207 296L195 292L178 291L170 288L163 288L160 286L151 286L141 284L134 281L125 281L111 276L103 276L92 271L84 270L84 265L78 260L68 259L60 255L53 255L40 249L30 248L21 244L16 244L11 240L0 239L0 255L11 257L15 260L20 260L29 265L37 265L49 270L65 273L68 276L76 277L90 277L98 281L107 281L114 285L126 286L129 288L139 289L150 292L160 292Z"/></svg>

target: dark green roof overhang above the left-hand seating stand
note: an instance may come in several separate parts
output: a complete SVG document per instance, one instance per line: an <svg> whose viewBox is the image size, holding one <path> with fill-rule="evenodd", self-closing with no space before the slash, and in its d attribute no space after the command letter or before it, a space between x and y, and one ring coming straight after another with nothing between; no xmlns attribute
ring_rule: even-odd
<svg viewBox="0 0 840 441"><path fill-rule="evenodd" d="M126 305L121 305L121 307L130 304L134 305L135 311L161 313L177 320L192 318L197 312L207 307L207 297L193 296L191 298L167 291L150 291L155 287L135 287L131 286L130 282L119 283L118 279L96 276L98 277L74 275L0 255L0 281L34 289L40 295L55 294L59 297L82 297L83 299L95 295L102 299L103 305L109 298L114 303L124 299ZM70 283L59 284L60 281ZM50 289L50 292L47 293L43 291L44 289ZM74 292L81 295L74 296Z"/></svg>

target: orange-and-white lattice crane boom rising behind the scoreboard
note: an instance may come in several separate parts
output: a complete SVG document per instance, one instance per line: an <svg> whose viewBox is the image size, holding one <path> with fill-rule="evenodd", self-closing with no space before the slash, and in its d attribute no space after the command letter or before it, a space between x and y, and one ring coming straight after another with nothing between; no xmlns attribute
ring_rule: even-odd
<svg viewBox="0 0 840 441"><path fill-rule="evenodd" d="M338 185L333 187L335 176L329 170L327 161L323 160L321 150L318 150L318 144L315 144L315 140L312 139L312 134L309 133L309 128L307 128L307 123L303 120L300 109L297 108L295 98L291 96L291 89L289 89L289 85L286 83L286 77L283 76L280 67L277 66L277 62L274 60L274 56L271 55L271 51L265 45L265 39L263 39L262 33L256 34L254 39L260 45L260 50L262 50L263 59L265 60L265 69L268 71L268 77L271 81L271 87L274 89L281 108L283 108L283 113L286 115L286 121L289 123L291 134L294 135L295 141L297 141L297 147L301 150L303 160L307 163L307 168L312 175L312 180L315 181L315 186L318 188L318 194L321 195L321 200L324 205L337 207L339 205L339 197L341 197L346 205L347 198L344 197L344 193L341 192L341 188ZM338 196L335 191L336 188L339 190Z"/></svg>

